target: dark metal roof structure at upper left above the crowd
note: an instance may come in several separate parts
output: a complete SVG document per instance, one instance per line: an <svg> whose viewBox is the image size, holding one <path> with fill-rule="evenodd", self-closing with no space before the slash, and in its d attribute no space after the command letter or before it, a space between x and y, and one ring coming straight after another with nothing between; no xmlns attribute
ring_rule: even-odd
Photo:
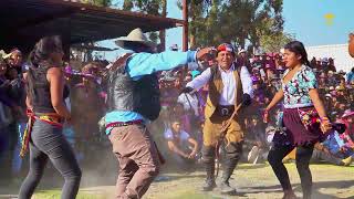
<svg viewBox="0 0 354 199"><path fill-rule="evenodd" d="M32 48L44 35L66 43L100 41L183 25L181 20L95 7L77 0L0 0L0 49Z"/></svg>

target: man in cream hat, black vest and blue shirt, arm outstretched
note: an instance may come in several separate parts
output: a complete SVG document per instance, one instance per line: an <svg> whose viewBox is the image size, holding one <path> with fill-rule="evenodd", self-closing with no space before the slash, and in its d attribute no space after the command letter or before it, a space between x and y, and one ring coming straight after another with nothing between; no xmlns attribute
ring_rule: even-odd
<svg viewBox="0 0 354 199"><path fill-rule="evenodd" d="M126 53L111 66L107 82L106 134L119 163L117 198L142 198L159 171L157 148L145 123L160 111L155 72L206 59L211 49L198 52L152 53L152 43L140 29L119 38Z"/></svg>

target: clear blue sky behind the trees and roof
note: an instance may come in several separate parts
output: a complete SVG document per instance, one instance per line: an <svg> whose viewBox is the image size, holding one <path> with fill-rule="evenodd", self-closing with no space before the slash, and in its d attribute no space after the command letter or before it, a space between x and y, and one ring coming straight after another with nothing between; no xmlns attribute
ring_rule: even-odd
<svg viewBox="0 0 354 199"><path fill-rule="evenodd" d="M284 31L305 45L343 44L354 32L354 0L283 0ZM167 17L181 19L177 0L167 0ZM325 14L333 14L327 24ZM167 30L166 48L177 43L181 48L181 28ZM104 42L114 46L112 42Z"/></svg>

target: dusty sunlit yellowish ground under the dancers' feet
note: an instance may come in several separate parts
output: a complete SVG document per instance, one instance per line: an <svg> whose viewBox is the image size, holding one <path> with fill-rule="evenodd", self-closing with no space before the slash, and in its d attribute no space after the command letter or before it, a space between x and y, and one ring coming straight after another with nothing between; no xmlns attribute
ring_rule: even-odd
<svg viewBox="0 0 354 199"><path fill-rule="evenodd" d="M290 178L296 195L301 196L300 179L294 164L287 164ZM314 199L354 198L354 166L339 167L330 165L311 165L314 181ZM202 170L190 172L164 172L155 181L146 196L146 199L228 199L228 198L281 198L280 186L269 165L241 164L235 171L231 185L238 189L238 196L226 197L214 192L201 192L199 187L205 178ZM83 185L77 198L81 199L105 199L114 197L113 178L102 184L104 186L92 186L95 178L83 177ZM107 186L110 185L110 186ZM0 198L14 198L15 189L6 192L0 189ZM2 193L2 195L1 195ZM60 198L59 190L38 191L35 199Z"/></svg>

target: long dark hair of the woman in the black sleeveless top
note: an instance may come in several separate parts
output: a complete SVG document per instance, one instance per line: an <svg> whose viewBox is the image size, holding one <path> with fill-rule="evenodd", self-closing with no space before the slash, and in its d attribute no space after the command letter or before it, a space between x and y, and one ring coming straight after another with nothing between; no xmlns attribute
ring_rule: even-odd
<svg viewBox="0 0 354 199"><path fill-rule="evenodd" d="M35 43L29 55L29 71L27 73L27 92L30 98L34 97L34 71L46 74L46 71L54 66L50 57L51 54L62 50L62 40L59 35L44 36Z"/></svg>

